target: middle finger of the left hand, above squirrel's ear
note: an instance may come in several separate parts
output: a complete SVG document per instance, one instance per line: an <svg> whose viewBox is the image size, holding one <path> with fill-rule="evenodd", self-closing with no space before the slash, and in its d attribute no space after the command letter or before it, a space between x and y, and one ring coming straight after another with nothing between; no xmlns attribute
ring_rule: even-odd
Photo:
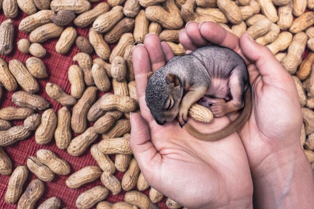
<svg viewBox="0 0 314 209"><path fill-rule="evenodd" d="M161 40L155 34L148 34L144 39L144 46L147 49L152 72L166 65Z"/></svg>

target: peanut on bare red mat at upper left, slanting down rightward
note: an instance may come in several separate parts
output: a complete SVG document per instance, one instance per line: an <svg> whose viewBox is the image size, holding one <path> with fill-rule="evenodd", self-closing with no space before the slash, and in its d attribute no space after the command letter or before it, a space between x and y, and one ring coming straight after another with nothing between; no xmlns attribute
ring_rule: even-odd
<svg viewBox="0 0 314 209"><path fill-rule="evenodd" d="M46 93L49 97L56 100L64 106L72 106L76 104L76 99L68 94L66 94L58 85L47 83Z"/></svg>

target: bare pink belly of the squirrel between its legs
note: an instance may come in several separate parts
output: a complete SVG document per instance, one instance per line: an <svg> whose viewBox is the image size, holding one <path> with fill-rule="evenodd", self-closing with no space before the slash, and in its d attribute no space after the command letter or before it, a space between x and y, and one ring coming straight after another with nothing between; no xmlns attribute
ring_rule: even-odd
<svg viewBox="0 0 314 209"><path fill-rule="evenodd" d="M206 92L206 96L230 99L229 79L212 78L212 84Z"/></svg>

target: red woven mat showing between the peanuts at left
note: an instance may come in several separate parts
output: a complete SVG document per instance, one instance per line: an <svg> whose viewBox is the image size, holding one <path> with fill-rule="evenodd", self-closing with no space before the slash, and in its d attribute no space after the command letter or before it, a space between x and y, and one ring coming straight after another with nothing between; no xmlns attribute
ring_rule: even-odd
<svg viewBox="0 0 314 209"><path fill-rule="evenodd" d="M103 2L103 1L101 1ZM95 6L95 4L93 4ZM26 14L22 13L21 11L19 12L18 18L14 19L14 25L15 25L15 37L14 37L14 50L9 56L0 56L3 58L7 63L9 63L10 60L12 59L18 59L21 62L25 63L26 60L31 57L31 55L26 55L21 53L20 51L17 50L17 42L20 39L23 38L28 38L29 34L23 33L18 31L18 26L19 23L22 19L27 17ZM0 23L2 23L4 20L7 18L3 14L3 11L0 11ZM74 26L74 25L73 25ZM88 37L88 29L89 27L85 29L77 28L78 36L85 36ZM68 68L74 64L72 61L72 58L75 54L78 53L78 49L76 46L73 46L72 49L70 50L69 53L65 55L60 55L57 54L55 51L55 46L56 42L58 39L52 39L48 40L45 43L43 43L43 46L47 50L47 55L42 59L44 63L47 66L47 71L49 74L48 79L38 79L39 85L41 87L40 92L38 93L39 95L43 96L45 99L47 99L52 108L57 112L62 106L55 102L54 100L50 99L44 89L46 86L47 82L55 83L59 85L65 92L70 93L70 83L68 81ZM113 48L113 46L111 46ZM93 58L96 58L95 54L92 56ZM18 90L21 90L18 89ZM17 91L18 91L17 90ZM102 94L102 93L99 93ZM0 108L8 107L8 106L15 106L16 105L11 101L12 97L12 92L8 92L4 89L4 94L1 99L1 106ZM23 121L14 121L14 125L20 125L22 124ZM99 142L100 138L98 139ZM13 167L16 168L20 164L26 165L27 157L28 156L34 156L36 155L36 151L39 149L49 149L54 151L59 157L62 159L65 159L67 162L69 162L71 166L71 173L87 166L87 165L97 165L96 161L92 158L89 149L87 149L81 156L79 157L74 157L71 156L70 154L67 153L66 150L60 150L57 148L55 141L52 140L49 144L47 145L39 145L35 142L34 140L34 134L29 137L26 140L20 141L18 143L15 143L12 146L4 147L5 152L10 156L13 162ZM113 157L112 157L113 159ZM116 172L115 175L121 180L123 173ZM7 204L4 200L5 192L7 190L7 184L9 181L10 175L9 176L4 176L0 175L0 208L1 209L14 209L17 208L17 204ZM28 180L24 185L24 189L28 185L28 183L36 178L36 176L32 173L29 174ZM70 189L66 186L65 181L68 178L68 176L61 176L61 175L56 175L56 178L52 182L45 182L45 193L43 196L40 198L40 200L37 202L35 208L38 207L40 203L42 203L44 200L47 198L50 198L52 196L58 196L62 200L62 206L67 207L68 209L74 209L76 208L75 206L75 201L76 198L80 193L83 191L92 188L96 185L101 185L100 179L92 182L85 184L81 186L78 189ZM110 202L118 202L118 201L123 201L123 195L125 191L122 191L118 195L112 195L111 193L107 196L106 200ZM144 191L145 194L148 194L148 191ZM158 203L160 208L167 208L165 204L165 199ZM62 207L61 207L62 208ZM95 208L95 207L94 207Z"/></svg>

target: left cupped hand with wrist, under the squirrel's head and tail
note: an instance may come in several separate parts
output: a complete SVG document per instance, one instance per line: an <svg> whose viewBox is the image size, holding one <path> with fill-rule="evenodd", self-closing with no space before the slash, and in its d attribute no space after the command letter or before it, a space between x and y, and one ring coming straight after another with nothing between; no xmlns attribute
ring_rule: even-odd
<svg viewBox="0 0 314 209"><path fill-rule="evenodd" d="M178 121L158 125L145 103L147 75L174 57L167 43L149 34L133 52L141 115L131 114L130 146L147 182L192 208L251 208L252 179L240 137L233 133L216 142L200 141ZM201 132L225 127L227 117L210 124L188 123Z"/></svg>

